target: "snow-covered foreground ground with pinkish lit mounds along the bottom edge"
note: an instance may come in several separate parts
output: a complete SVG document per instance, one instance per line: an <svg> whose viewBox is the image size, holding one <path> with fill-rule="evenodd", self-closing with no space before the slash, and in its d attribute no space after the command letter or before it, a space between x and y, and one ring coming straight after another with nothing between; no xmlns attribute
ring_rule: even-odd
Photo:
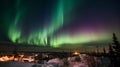
<svg viewBox="0 0 120 67"><path fill-rule="evenodd" d="M108 67L110 60L107 57L80 55L64 59L50 59L44 64L27 62L0 62L0 67Z"/></svg>

